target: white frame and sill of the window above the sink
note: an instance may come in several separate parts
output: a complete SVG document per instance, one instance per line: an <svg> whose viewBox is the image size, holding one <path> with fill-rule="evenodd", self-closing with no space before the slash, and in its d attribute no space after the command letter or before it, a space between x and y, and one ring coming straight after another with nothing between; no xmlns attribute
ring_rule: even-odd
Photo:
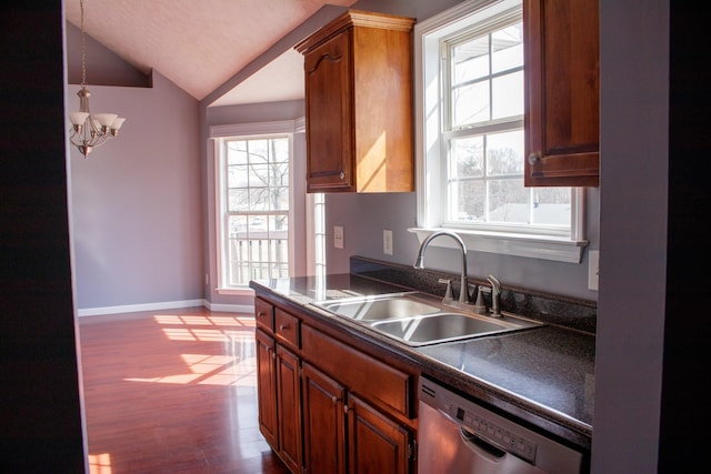
<svg viewBox="0 0 711 474"><path fill-rule="evenodd" d="M414 26L417 226L409 231L422 242L432 232L447 228L462 238L468 250L580 263L588 244L584 239L584 188L572 189L570 235L517 233L503 228L453 229L444 222L440 193L432 191L438 189L441 180L443 153L440 40L467 23L482 21L517 3L520 0L470 0ZM450 239L435 239L431 244L454 246Z"/></svg>

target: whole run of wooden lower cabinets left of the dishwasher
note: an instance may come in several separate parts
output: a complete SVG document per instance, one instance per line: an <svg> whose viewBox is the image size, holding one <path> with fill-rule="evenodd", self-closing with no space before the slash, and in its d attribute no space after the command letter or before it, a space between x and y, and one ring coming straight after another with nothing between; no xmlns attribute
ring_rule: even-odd
<svg viewBox="0 0 711 474"><path fill-rule="evenodd" d="M258 296L259 312L268 304ZM289 470L417 472L417 375L317 330L308 314L272 311L273 333L258 324L256 335L259 425Z"/></svg>

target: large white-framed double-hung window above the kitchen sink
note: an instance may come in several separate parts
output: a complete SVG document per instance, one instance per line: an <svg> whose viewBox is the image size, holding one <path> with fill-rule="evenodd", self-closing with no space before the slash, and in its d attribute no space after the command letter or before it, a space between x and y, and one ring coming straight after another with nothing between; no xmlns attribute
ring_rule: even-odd
<svg viewBox="0 0 711 474"><path fill-rule="evenodd" d="M415 26L412 231L444 228L474 250L579 261L582 190L523 186L522 26L520 0L469 1Z"/></svg>

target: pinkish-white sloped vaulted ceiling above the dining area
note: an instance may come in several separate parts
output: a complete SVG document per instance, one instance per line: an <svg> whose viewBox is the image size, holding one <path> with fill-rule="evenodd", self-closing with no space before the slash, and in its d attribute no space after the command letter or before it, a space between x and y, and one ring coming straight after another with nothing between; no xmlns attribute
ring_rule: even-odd
<svg viewBox="0 0 711 474"><path fill-rule="evenodd" d="M143 73L157 70L198 100L226 83L321 7L356 0L83 0L84 31ZM81 26L80 0L64 0ZM220 104L303 97L291 50L228 91ZM294 75L296 74L296 75ZM293 77L293 81L280 80Z"/></svg>

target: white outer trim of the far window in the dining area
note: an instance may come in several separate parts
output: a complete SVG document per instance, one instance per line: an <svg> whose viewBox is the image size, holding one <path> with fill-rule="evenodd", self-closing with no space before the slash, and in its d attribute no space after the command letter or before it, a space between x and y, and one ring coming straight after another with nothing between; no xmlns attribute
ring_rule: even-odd
<svg viewBox="0 0 711 474"><path fill-rule="evenodd" d="M217 250L216 255L216 270L217 270L217 292L218 294L231 294L231 295L242 295L242 294L252 294L253 290L248 285L228 285L226 282L226 272L224 272L224 263L223 258L226 254L226 242L224 242L224 202L223 202L223 189L224 189L224 160L227 157L224 155L224 148L222 141L226 139L239 139L239 140L252 140L252 139L264 139L264 138L274 138L284 135L289 137L289 150L290 150L290 163L293 160L293 133L298 130L298 122L292 120L287 121L276 121L276 122L261 122L261 123L246 123L246 124L236 124L236 125L213 125L210 128L210 138L214 140L214 228L216 228L216 242L214 248ZM289 273L290 276L293 276L294 272L294 225L293 225L293 203L294 203L294 191L293 191L293 172L289 172L289 229L288 229L288 239L289 239Z"/></svg>

